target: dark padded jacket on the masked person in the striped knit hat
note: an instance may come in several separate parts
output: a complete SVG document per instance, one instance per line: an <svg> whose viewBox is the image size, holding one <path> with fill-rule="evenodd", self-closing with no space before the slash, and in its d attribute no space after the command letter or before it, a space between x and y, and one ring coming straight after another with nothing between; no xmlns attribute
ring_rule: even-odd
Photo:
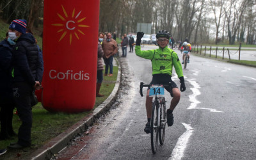
<svg viewBox="0 0 256 160"><path fill-rule="evenodd" d="M44 68L31 33L19 36L12 52L14 82L27 82L34 86L35 81L42 81Z"/></svg>

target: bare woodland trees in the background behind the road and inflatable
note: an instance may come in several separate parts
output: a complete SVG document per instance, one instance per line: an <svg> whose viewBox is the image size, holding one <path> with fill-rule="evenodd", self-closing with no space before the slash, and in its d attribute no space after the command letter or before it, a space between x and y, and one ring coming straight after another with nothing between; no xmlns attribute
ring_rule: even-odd
<svg viewBox="0 0 256 160"><path fill-rule="evenodd" d="M92 1L88 1L90 5ZM154 34L169 31L193 44L256 44L256 0L100 0L99 31L136 33L137 23L151 23ZM26 19L42 37L43 0L1 0L0 18L10 24ZM3 39L3 37L1 37Z"/></svg>

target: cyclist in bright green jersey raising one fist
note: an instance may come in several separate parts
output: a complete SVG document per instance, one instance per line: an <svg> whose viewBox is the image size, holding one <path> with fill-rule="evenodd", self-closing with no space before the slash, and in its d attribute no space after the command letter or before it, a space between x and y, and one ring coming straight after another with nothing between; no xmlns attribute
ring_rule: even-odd
<svg viewBox="0 0 256 160"><path fill-rule="evenodd" d="M135 53L141 58L151 60L152 63L152 81L150 84L168 84L171 83L170 87L165 89L171 93L173 97L171 101L170 108L167 109L167 124L168 126L173 125L173 109L177 106L180 100L180 91L184 92L186 86L184 83L184 77L182 73L182 67L177 56L177 53L172 49L168 48L168 42L170 39L170 33L168 31L162 30L158 31L156 34L157 45L159 49L152 49L148 51L141 51L140 42L143 37L143 32L137 33ZM172 81L172 68L175 68L176 73L180 79L180 91L178 86ZM152 99L149 97L149 88L147 90L147 99L146 99L146 110L148 122L144 129L145 132L150 132L150 119L151 119L151 110L152 110Z"/></svg>

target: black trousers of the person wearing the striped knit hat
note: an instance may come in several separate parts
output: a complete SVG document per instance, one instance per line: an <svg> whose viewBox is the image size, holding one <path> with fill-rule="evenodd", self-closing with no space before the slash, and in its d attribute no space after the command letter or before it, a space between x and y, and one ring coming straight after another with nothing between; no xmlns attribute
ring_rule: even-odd
<svg viewBox="0 0 256 160"><path fill-rule="evenodd" d="M33 86L22 82L13 84L13 97L19 118L22 122L18 133L18 143L22 146L31 145Z"/></svg>

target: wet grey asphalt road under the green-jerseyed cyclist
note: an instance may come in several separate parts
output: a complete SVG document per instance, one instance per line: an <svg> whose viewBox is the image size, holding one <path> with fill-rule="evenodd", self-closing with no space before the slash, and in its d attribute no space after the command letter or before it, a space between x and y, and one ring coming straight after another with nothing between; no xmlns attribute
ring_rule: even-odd
<svg viewBox="0 0 256 160"><path fill-rule="evenodd" d="M115 104L58 159L256 159L256 68L191 55L174 124L153 155L150 134L143 132L145 97L139 93L140 81L152 78L151 63L127 52L120 64L122 86ZM175 72L173 81L180 85Z"/></svg>

